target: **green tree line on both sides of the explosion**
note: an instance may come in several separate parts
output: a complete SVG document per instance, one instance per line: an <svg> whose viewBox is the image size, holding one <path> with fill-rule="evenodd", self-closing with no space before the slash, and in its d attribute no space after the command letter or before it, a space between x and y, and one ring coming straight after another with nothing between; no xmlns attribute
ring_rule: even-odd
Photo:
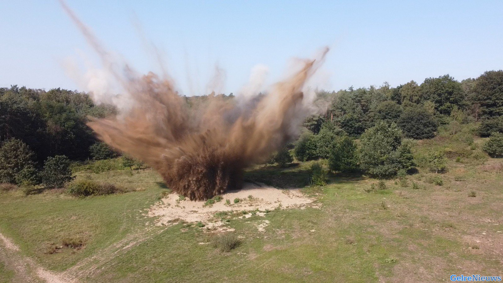
<svg viewBox="0 0 503 283"><path fill-rule="evenodd" d="M186 101L193 105L205 99L190 97ZM427 78L421 84L410 81L397 87L384 83L378 88L319 91L317 99L329 101L329 107L324 114L305 120L307 130L294 144L298 160L326 158L334 170L358 167L369 174L391 176L412 166L410 145L402 142L402 136L432 138L441 125L455 133L472 122L477 123L480 136L493 135L485 147L487 152L503 154L503 70L461 82L445 75ZM54 158L66 163L115 157L117 154L100 143L86 125L89 116L100 118L115 112L111 105L96 105L83 92L0 88L0 182L34 182L30 179L33 176L41 182L44 174L49 176L42 173L47 162L54 163ZM282 149L269 162L284 164L290 159L288 149ZM372 164L376 160L380 164Z"/></svg>

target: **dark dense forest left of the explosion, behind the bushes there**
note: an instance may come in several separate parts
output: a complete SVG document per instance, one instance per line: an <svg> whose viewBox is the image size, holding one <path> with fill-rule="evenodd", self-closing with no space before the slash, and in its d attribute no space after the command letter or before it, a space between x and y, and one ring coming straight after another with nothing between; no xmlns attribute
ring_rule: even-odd
<svg viewBox="0 0 503 283"><path fill-rule="evenodd" d="M0 142L22 140L39 162L54 155L86 159L96 141L86 125L87 116L105 117L113 112L110 106L97 106L89 95L76 91L0 88Z"/></svg>

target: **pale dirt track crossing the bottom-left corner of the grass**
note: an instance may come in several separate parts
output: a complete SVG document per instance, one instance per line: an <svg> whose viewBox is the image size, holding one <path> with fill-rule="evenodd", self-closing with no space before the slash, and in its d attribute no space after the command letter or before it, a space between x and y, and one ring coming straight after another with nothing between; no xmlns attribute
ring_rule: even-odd
<svg viewBox="0 0 503 283"><path fill-rule="evenodd" d="M14 242L0 233L0 260L15 271L13 282L75 283L75 279L56 274L39 266L35 260L23 256Z"/></svg>

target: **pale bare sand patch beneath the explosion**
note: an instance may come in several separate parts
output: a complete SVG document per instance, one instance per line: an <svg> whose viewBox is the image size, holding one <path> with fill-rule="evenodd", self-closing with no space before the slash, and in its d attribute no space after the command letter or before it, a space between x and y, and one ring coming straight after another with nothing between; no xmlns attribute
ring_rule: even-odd
<svg viewBox="0 0 503 283"><path fill-rule="evenodd" d="M205 205L204 201L181 200L177 193L167 195L160 202L153 205L148 215L158 217L156 225L170 225L180 221L203 222L207 228L220 227L224 223L212 222L218 211L242 211L242 210L273 210L280 208L303 208L313 199L308 198L299 189L282 190L261 183L245 183L241 190L228 191L220 195L221 201L212 205ZM238 203L234 199L239 198ZM226 204L226 200L230 204ZM264 216L257 212L255 215ZM245 218L251 213L244 215ZM260 229L263 231L263 228Z"/></svg>

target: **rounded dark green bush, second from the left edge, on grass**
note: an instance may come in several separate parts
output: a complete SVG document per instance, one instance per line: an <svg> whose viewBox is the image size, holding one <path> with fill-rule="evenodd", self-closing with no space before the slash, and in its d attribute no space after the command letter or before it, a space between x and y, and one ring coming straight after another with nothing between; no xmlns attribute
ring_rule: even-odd
<svg viewBox="0 0 503 283"><path fill-rule="evenodd" d="M48 157L44 163L44 170L40 173L42 184L47 188L61 188L71 181L70 160L64 155Z"/></svg>

